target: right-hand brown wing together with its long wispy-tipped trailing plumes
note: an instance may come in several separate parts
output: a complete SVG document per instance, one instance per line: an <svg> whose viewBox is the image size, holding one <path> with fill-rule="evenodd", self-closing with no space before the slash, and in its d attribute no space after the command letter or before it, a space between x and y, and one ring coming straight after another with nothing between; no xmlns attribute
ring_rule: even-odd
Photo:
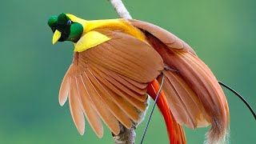
<svg viewBox="0 0 256 144"><path fill-rule="evenodd" d="M229 127L229 110L225 94L208 66L194 50L174 34L148 22L130 20L143 30L150 45L162 56L166 66L179 70L164 70L163 91L174 118L190 128L208 126L209 141L225 139Z"/></svg>

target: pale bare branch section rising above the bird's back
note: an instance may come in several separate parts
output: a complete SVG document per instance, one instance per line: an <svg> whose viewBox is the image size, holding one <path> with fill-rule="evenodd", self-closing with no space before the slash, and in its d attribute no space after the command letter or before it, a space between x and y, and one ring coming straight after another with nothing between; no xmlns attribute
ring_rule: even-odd
<svg viewBox="0 0 256 144"><path fill-rule="evenodd" d="M110 0L114 10L117 11L120 18L132 19L126 6L123 5L122 0Z"/></svg>

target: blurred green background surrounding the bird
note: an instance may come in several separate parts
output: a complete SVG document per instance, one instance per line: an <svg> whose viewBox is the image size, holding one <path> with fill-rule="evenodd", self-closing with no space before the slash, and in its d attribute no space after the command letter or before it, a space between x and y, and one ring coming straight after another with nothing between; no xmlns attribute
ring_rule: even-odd
<svg viewBox="0 0 256 144"><path fill-rule="evenodd" d="M198 53L216 77L234 87L256 110L256 1L125 0L133 18L170 30ZM89 125L80 136L69 106L58 105L58 89L73 57L70 42L52 45L47 19L61 12L85 19L118 18L107 0L2 1L0 5L0 143L113 143L109 130L97 138ZM234 94L230 141L256 141L256 123ZM138 127L137 142L146 122ZM208 127L209 128L209 127ZM202 143L208 128L189 130L188 143ZM145 143L168 143L154 111Z"/></svg>

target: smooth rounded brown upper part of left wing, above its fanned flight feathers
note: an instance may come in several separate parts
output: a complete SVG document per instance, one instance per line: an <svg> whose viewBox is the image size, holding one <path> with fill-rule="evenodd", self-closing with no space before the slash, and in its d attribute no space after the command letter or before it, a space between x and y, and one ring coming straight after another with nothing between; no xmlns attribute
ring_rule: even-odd
<svg viewBox="0 0 256 144"><path fill-rule="evenodd" d="M90 61L99 66L107 67L137 82L150 82L160 74L158 70L163 69L162 58L152 47L128 34L113 33L121 35L122 38L111 39L93 49L86 50L86 53L82 54L86 54ZM98 53L99 50L100 53ZM127 57L130 58L129 60L117 59L117 57L122 57L116 53L118 50L126 50L126 54L134 55L134 57ZM130 65L132 62L136 64Z"/></svg>

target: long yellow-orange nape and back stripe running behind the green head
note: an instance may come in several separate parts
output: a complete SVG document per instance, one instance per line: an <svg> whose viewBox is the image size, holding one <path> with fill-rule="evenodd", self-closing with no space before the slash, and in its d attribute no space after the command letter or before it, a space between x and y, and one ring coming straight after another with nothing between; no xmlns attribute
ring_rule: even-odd
<svg viewBox="0 0 256 144"><path fill-rule="evenodd" d="M91 30L95 29L106 29L106 30L120 30L122 33L129 34L139 40L146 42L145 35L142 31L136 27L130 25L125 19L104 19L104 20L93 20L86 21L82 18L78 18L72 14L66 14L73 22L78 22L83 26L83 34L85 35Z"/></svg>

